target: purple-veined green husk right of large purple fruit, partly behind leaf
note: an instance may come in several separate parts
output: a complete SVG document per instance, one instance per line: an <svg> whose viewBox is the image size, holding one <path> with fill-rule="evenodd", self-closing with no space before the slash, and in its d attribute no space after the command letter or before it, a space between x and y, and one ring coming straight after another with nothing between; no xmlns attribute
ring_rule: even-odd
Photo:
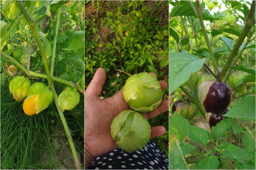
<svg viewBox="0 0 256 170"><path fill-rule="evenodd" d="M235 89L237 86L237 83L246 75L245 72L239 71L239 70L232 70L229 77L228 77L228 84L232 89ZM243 95L247 91L247 84L241 84L238 86L235 91L238 93L238 95Z"/></svg>

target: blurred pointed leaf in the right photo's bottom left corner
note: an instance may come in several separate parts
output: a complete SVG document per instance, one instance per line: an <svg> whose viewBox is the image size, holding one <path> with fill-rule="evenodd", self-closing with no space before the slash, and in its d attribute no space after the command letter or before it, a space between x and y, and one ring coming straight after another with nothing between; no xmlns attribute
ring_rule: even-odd
<svg viewBox="0 0 256 170"><path fill-rule="evenodd" d="M189 169L189 166L182 155L179 143L174 135L170 138L169 146L169 169Z"/></svg>

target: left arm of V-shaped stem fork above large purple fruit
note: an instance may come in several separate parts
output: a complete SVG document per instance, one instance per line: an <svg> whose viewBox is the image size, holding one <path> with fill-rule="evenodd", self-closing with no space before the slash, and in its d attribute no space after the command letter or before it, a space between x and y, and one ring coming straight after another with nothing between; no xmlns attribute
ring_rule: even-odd
<svg viewBox="0 0 256 170"><path fill-rule="evenodd" d="M202 27L202 31L203 31L203 34L204 34L204 37L205 37L207 48L209 50L209 54L210 54L210 57L211 57L211 60L212 60L212 65L213 65L214 72L215 72L215 74L217 74L217 72L219 72L219 69L217 67L217 64L216 64L216 61L215 61L215 58L214 58L214 55L213 55L212 47L211 47L206 29L205 29L205 24L204 24L204 21L203 21L203 16L202 16L202 11L200 9L199 1L196 1L196 3L197 3L197 16L198 16L200 25Z"/></svg>

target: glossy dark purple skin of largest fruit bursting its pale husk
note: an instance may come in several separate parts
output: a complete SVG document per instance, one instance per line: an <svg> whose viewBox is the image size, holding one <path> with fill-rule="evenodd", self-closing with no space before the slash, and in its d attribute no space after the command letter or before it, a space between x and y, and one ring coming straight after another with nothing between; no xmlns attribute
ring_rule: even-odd
<svg viewBox="0 0 256 170"><path fill-rule="evenodd" d="M224 112L231 101L230 89L226 83L213 83L204 101L205 110L215 114Z"/></svg>

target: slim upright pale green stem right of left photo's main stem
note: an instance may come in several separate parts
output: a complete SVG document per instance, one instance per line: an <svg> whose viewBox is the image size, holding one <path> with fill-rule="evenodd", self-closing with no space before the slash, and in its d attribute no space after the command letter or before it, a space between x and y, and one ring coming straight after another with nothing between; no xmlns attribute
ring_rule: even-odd
<svg viewBox="0 0 256 170"><path fill-rule="evenodd" d="M54 39L53 39L53 47L52 47L52 57L51 57L51 76L53 76L53 71L54 71L54 61L55 61L55 51L56 51L56 43L57 43L57 36L58 36L58 30L59 30L59 18L61 14L61 8L58 9L57 13L57 19L55 22L55 34L54 34Z"/></svg>

